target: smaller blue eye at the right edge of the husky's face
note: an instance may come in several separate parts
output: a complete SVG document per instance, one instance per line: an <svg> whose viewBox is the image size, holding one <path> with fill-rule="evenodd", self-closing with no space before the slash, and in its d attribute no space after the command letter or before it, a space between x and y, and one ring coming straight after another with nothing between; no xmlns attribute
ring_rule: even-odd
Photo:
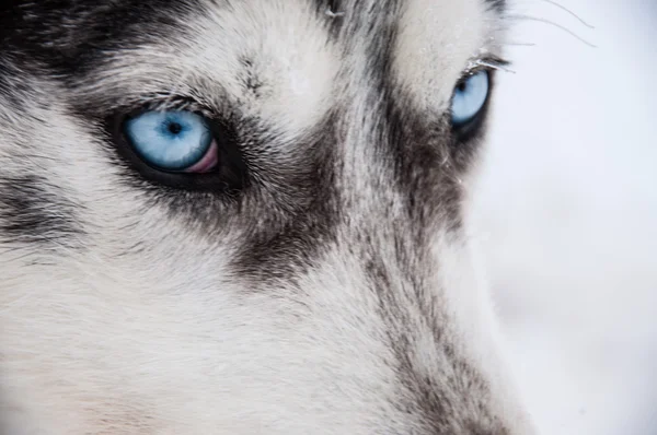
<svg viewBox="0 0 657 435"><path fill-rule="evenodd" d="M466 125L482 110L488 97L488 72L480 71L457 86L451 105L454 127Z"/></svg>

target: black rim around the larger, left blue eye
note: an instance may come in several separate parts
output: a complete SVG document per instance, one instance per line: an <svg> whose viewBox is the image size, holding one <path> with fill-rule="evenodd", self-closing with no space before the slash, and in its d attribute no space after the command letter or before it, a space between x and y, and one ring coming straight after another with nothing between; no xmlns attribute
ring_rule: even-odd
<svg viewBox="0 0 657 435"><path fill-rule="evenodd" d="M105 119L108 132L118 156L147 181L187 191L216 192L234 195L243 190L249 181L247 165L239 149L239 137L231 122L220 121L206 114L193 111L203 116L217 142L217 167L208 173L171 172L158 168L146 162L135 150L125 132L128 119L139 116L152 108L134 110L117 110Z"/></svg>

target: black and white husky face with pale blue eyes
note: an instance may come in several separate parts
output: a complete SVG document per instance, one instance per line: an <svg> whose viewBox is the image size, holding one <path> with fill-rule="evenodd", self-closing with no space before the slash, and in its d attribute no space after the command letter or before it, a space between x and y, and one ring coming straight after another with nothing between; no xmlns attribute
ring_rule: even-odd
<svg viewBox="0 0 657 435"><path fill-rule="evenodd" d="M502 1L0 8L3 433L532 433L462 205Z"/></svg>

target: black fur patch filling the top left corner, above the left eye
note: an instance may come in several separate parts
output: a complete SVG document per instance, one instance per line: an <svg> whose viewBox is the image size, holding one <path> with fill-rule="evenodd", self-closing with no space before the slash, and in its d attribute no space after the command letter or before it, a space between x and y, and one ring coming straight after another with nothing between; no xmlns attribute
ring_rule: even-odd
<svg viewBox="0 0 657 435"><path fill-rule="evenodd" d="M171 33L199 0L0 1L0 49L80 75L126 42Z"/></svg>

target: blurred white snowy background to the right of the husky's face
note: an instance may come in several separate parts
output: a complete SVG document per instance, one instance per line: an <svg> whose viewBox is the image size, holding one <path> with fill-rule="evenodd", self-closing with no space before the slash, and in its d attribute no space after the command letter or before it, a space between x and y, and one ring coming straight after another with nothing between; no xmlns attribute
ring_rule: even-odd
<svg viewBox="0 0 657 435"><path fill-rule="evenodd" d="M543 435L657 435L657 0L516 0L475 195Z"/></svg>

